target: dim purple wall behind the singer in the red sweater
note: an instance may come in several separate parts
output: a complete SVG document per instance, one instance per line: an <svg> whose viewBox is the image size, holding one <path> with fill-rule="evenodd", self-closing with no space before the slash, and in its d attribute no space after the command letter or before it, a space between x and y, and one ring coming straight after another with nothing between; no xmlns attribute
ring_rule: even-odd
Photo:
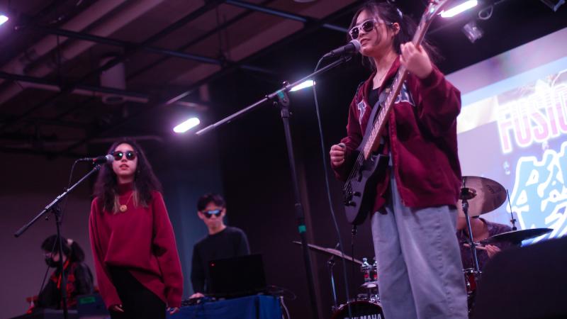
<svg viewBox="0 0 567 319"><path fill-rule="evenodd" d="M140 144L163 184L184 272L186 298L192 292L189 274L193 244L206 235L206 227L196 216L196 200L208 191L222 193L216 137L176 137ZM108 146L91 147L89 154L104 154ZM36 295L40 289L46 269L40 245L45 237L55 233L55 222L52 218L40 219L21 237L15 238L13 233L62 192L73 160L1 154L0 162L0 318L11 318L23 314L28 309L26 297ZM77 165L74 180L88 169L88 164ZM88 231L93 184L91 179L69 196L62 232L83 247L86 264L94 273Z"/></svg>

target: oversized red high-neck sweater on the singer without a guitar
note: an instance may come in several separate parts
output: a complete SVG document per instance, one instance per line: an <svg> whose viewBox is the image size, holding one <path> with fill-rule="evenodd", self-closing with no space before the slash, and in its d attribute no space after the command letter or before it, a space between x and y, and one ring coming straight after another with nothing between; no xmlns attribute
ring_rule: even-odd
<svg viewBox="0 0 567 319"><path fill-rule="evenodd" d="M103 210L99 198L91 204L89 233L96 279L107 307L121 304L108 266L126 267L147 289L169 307L181 306L183 275L172 223L157 191L147 207L134 206L132 184L119 185L120 204L128 202L124 213Z"/></svg>

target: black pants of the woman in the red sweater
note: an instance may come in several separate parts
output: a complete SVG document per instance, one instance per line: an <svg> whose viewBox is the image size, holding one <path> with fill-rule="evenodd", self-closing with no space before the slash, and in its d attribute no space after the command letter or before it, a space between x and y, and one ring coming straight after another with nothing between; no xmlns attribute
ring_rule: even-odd
<svg viewBox="0 0 567 319"><path fill-rule="evenodd" d="M165 303L137 281L128 269L109 267L124 313L111 311L112 319L165 319Z"/></svg>

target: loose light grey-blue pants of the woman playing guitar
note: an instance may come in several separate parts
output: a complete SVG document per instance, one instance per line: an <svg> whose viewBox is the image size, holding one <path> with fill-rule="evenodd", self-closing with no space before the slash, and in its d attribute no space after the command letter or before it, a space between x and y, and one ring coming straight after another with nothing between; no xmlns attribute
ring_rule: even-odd
<svg viewBox="0 0 567 319"><path fill-rule="evenodd" d="M384 317L468 318L456 209L408 208L393 177L391 189L371 218Z"/></svg>

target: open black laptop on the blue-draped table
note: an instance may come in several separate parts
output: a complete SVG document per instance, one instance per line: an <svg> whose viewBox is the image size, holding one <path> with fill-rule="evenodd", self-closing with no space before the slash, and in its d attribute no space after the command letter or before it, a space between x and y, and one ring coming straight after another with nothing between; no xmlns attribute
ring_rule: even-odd
<svg viewBox="0 0 567 319"><path fill-rule="evenodd" d="M208 269L209 296L235 298L266 291L266 276L261 254L212 260L208 263Z"/></svg>

